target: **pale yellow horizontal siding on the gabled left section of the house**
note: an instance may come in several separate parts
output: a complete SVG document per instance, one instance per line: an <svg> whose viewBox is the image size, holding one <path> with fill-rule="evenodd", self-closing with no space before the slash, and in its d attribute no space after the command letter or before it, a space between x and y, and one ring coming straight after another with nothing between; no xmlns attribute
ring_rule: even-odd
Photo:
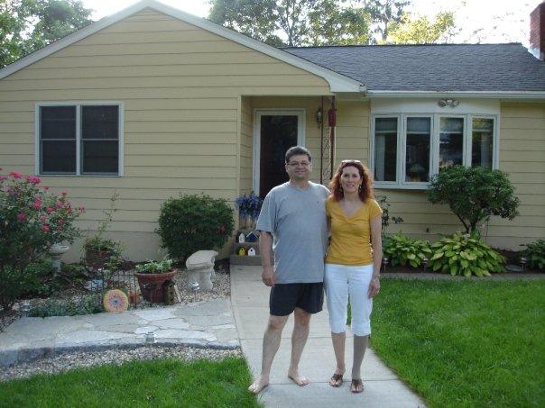
<svg viewBox="0 0 545 408"><path fill-rule="evenodd" d="M146 9L0 80L0 167L34 173L36 103L123 103L124 176L43 184L88 208L84 231L117 192L109 235L128 258L156 258L165 199L204 192L233 202L251 189L252 111L241 95L329 93L321 77Z"/></svg>

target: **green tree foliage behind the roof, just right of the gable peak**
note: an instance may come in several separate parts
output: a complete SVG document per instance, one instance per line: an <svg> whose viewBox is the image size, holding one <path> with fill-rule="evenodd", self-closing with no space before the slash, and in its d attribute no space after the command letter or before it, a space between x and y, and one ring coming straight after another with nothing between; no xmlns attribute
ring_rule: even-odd
<svg viewBox="0 0 545 408"><path fill-rule="evenodd" d="M208 18L273 46L368 40L370 16L339 0L211 0Z"/></svg>

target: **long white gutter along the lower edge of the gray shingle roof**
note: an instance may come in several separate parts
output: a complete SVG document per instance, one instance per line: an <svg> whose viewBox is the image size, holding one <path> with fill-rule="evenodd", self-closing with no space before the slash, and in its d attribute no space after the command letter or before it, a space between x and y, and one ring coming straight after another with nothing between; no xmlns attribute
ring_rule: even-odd
<svg viewBox="0 0 545 408"><path fill-rule="evenodd" d="M502 99L545 99L545 91L367 91L369 97L468 97Z"/></svg>

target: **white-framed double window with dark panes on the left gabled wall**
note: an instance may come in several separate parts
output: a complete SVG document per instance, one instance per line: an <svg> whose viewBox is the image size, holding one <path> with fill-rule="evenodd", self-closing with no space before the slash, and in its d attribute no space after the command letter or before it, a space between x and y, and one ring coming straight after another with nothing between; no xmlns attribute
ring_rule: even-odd
<svg viewBox="0 0 545 408"><path fill-rule="evenodd" d="M36 172L41 175L120 176L123 104L36 104Z"/></svg>

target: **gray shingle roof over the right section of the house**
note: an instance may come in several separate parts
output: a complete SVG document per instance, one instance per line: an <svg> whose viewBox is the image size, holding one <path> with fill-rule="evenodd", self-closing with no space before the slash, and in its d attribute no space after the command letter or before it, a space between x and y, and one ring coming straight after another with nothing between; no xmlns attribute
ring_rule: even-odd
<svg viewBox="0 0 545 408"><path fill-rule="evenodd" d="M545 62L522 44L284 48L371 91L545 91Z"/></svg>

